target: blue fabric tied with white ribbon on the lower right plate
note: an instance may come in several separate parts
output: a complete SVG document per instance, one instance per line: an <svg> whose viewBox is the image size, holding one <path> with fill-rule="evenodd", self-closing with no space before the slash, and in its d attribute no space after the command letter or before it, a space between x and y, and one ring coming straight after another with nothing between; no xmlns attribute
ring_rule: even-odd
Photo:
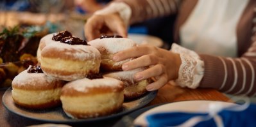
<svg viewBox="0 0 256 127"><path fill-rule="evenodd" d="M201 113L186 113L186 112L165 112L151 114L146 117L149 127L160 127L160 126L177 126L184 123L191 117L195 116L207 116L208 114ZM223 120L225 126L230 127L255 127L256 126L256 105L250 104L246 110L243 111L230 111L222 110L219 112L219 116ZM216 124L213 119L208 121L201 121L196 124L196 127L209 126L215 127Z"/></svg>

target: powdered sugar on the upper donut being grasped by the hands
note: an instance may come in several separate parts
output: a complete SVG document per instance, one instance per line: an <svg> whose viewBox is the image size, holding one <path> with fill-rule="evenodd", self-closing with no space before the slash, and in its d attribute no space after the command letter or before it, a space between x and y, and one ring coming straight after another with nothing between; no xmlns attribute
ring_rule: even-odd
<svg viewBox="0 0 256 127"><path fill-rule="evenodd" d="M89 41L88 43L96 49L105 47L110 54L115 54L121 50L129 49L137 45L135 41L128 38L98 38L96 40Z"/></svg>

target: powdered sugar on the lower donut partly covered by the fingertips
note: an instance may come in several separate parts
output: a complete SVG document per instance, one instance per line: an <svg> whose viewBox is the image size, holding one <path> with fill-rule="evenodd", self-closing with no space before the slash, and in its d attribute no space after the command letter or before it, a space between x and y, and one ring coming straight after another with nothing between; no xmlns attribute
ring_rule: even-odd
<svg viewBox="0 0 256 127"><path fill-rule="evenodd" d="M128 71L111 72L111 73L107 73L103 76L104 77L112 77L112 78L116 78L119 80L129 80L130 82L135 84L136 81L134 80L133 75L135 75L135 73L143 71L143 70L144 70L144 68L136 68L134 70L128 70Z"/></svg>

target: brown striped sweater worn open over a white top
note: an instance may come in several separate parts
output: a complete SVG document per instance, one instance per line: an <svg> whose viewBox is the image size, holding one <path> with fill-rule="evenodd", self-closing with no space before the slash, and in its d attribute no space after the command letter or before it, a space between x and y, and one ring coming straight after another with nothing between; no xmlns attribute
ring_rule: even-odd
<svg viewBox="0 0 256 127"><path fill-rule="evenodd" d="M130 23L178 13L175 42L180 26L187 20L197 0L119 0L132 9ZM145 9L146 8L146 9ZM199 54L205 63L200 87L212 87L231 94L256 96L256 1L250 0L237 24L236 58ZM171 31L171 30L170 30ZM225 42L223 42L225 43ZM237 78L235 78L237 77Z"/></svg>

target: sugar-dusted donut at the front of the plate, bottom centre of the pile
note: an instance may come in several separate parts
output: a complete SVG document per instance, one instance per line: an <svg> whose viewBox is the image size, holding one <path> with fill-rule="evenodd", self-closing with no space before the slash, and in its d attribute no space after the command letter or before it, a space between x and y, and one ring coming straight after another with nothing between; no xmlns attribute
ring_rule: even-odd
<svg viewBox="0 0 256 127"><path fill-rule="evenodd" d="M82 78L62 89L62 108L69 117L107 116L123 107L123 82L115 78Z"/></svg>

